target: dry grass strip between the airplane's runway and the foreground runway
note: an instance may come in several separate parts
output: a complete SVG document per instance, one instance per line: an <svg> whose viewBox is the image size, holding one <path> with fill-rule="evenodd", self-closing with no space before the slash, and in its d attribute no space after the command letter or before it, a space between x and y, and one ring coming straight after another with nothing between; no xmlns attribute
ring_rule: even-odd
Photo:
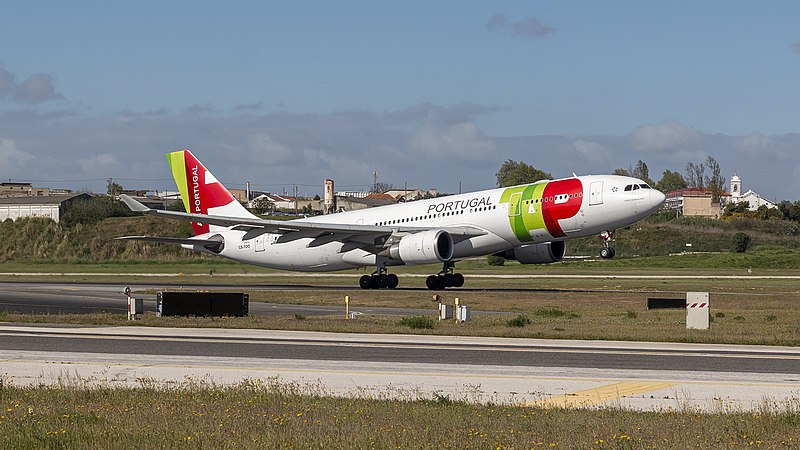
<svg viewBox="0 0 800 450"><path fill-rule="evenodd" d="M647 310L648 294L630 292L461 292L462 305L473 311L506 311L500 315L473 315L465 324L435 321L432 329L403 326L400 318L363 315L345 320L344 295L350 295L350 310L375 306L427 308L435 317L436 304L427 291L251 291L251 302L281 302L340 305L338 316L293 315L245 318L157 318L128 322L124 315L20 315L0 313L0 320L97 325L224 327L348 333L420 333L456 336L500 336L555 339L599 339L665 342L701 342L760 345L800 345L800 295L789 292L712 294L712 324L707 331L687 330L683 310ZM525 326L509 326L519 314L531 320Z"/></svg>

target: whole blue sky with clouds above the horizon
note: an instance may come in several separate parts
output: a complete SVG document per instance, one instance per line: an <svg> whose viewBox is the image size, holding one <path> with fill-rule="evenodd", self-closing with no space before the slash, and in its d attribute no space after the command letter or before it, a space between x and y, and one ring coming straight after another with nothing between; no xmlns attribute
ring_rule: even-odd
<svg viewBox="0 0 800 450"><path fill-rule="evenodd" d="M16 1L0 6L0 180L174 190L491 188L714 157L800 199L800 2Z"/></svg>

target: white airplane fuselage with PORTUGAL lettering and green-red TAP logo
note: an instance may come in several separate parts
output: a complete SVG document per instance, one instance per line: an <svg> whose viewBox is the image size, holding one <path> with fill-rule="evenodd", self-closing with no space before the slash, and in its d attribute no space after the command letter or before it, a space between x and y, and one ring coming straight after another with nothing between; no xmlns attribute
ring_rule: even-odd
<svg viewBox="0 0 800 450"><path fill-rule="evenodd" d="M547 187L548 184L552 185ZM646 186L644 182L635 178L589 175L297 220L382 226L395 229L399 234L411 229L470 227L482 230L484 234L480 236L456 242L453 259L462 259L502 252L523 244L592 236L628 226L652 214L664 202L664 194L643 186ZM565 213L563 207L567 204L571 209ZM546 225L536 225L542 223L543 209L549 211L546 212L552 219L545 220ZM287 225L292 222L288 221ZM524 230L521 231L520 226ZM225 240L220 256L259 266L334 271L376 264L374 253L341 241L309 246L314 237L294 237L286 241L281 234L266 233L244 239L244 231L232 229L209 233L213 234L222 235ZM393 264L403 262L389 262Z"/></svg>

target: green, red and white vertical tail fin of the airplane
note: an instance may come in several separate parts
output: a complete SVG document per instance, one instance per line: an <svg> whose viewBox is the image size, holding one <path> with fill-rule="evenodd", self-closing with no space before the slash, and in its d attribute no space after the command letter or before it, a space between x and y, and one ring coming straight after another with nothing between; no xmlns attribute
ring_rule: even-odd
<svg viewBox="0 0 800 450"><path fill-rule="evenodd" d="M256 218L189 150L167 153L172 176L183 199L186 212L240 218ZM192 222L194 234L219 231L223 227Z"/></svg>

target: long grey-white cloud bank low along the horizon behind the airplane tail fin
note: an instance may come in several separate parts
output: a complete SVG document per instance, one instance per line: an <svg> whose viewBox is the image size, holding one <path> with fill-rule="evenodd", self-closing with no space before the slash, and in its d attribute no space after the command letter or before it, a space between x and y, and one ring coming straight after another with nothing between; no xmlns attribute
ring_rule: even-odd
<svg viewBox="0 0 800 450"><path fill-rule="evenodd" d="M800 135L726 136L663 122L620 136L492 137L472 119L491 111L469 104L317 114L155 109L127 114L127 121L120 115L7 111L0 112L0 177L85 179L45 186L99 192L113 177L131 179L122 181L126 188L174 190L164 153L189 148L231 188L251 181L254 189L281 192L299 184L314 195L325 178L348 189L368 188L377 170L381 181L395 186L408 182L455 192L459 182L465 191L493 186L506 159L556 177L610 173L641 159L658 178L665 169L683 172L687 162L712 155L723 172L738 170L758 192L800 199L800 178L794 176Z"/></svg>

